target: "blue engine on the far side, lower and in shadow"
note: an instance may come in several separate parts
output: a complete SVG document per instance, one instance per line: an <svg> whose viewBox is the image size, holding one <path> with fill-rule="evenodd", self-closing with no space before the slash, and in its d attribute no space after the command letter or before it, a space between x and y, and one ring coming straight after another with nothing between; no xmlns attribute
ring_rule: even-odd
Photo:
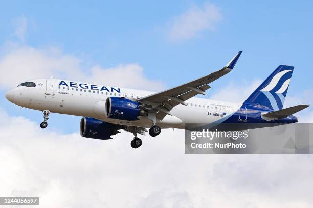
<svg viewBox="0 0 313 208"><path fill-rule="evenodd" d="M112 139L111 135L120 133L120 125L100 121L95 118L83 117L80 121L80 135L92 139Z"/></svg>

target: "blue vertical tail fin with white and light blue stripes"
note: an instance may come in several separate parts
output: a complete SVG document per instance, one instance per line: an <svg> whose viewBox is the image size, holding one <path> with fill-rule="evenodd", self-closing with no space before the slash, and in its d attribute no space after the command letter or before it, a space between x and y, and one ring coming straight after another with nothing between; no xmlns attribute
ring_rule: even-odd
<svg viewBox="0 0 313 208"><path fill-rule="evenodd" d="M293 71L293 66L278 66L244 103L259 104L274 111L281 110Z"/></svg>

